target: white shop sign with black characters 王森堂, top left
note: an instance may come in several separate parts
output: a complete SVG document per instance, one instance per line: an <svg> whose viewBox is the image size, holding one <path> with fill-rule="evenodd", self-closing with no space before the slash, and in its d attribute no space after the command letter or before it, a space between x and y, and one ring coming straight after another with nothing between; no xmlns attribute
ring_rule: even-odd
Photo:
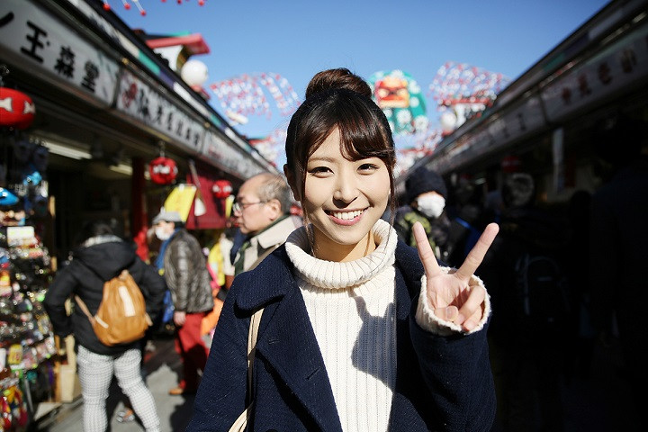
<svg viewBox="0 0 648 432"><path fill-rule="evenodd" d="M118 64L30 0L0 2L0 46L16 63L112 103Z"/></svg>

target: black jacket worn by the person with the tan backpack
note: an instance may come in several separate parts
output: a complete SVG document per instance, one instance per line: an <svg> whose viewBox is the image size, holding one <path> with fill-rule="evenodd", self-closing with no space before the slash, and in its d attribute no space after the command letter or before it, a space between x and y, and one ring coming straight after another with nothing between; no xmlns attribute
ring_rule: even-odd
<svg viewBox="0 0 648 432"><path fill-rule="evenodd" d="M157 270L142 261L133 247L120 238L101 236L90 240L86 244L93 246L77 249L69 266L58 272L49 285L44 306L58 336L66 337L74 333L78 345L97 354L118 355L131 347L137 347L139 342L114 347L103 345L94 335L90 321L80 308L75 307L72 315L67 316L66 300L78 295L94 315L102 300L103 283L127 268L139 285L146 299L148 315L153 319L162 307L166 286Z"/></svg>

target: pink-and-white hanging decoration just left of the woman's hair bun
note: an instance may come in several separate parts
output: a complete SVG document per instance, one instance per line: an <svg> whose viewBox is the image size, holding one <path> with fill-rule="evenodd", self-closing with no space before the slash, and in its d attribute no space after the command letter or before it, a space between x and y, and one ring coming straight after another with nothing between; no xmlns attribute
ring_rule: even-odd
<svg viewBox="0 0 648 432"><path fill-rule="evenodd" d="M235 114L229 115L235 121L240 119L240 116L243 117L241 120L245 121L244 118L249 115L266 115L268 119L272 118L266 92L270 94L283 116L291 115L301 103L288 80L275 73L234 76L212 83L209 87L218 96L225 112Z"/></svg>

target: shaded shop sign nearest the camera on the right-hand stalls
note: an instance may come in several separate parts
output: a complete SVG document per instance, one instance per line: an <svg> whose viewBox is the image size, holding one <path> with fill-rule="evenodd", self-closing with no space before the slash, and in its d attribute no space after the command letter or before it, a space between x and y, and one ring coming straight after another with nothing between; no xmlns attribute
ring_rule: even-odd
<svg viewBox="0 0 648 432"><path fill-rule="evenodd" d="M548 121L615 94L648 75L648 24L629 33L567 73L560 71L542 90Z"/></svg>

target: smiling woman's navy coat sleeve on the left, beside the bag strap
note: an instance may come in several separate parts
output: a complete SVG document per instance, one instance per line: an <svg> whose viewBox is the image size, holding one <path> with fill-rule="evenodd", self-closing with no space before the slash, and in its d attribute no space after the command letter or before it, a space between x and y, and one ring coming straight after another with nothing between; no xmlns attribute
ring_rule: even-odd
<svg viewBox="0 0 648 432"><path fill-rule="evenodd" d="M187 431L229 430L245 410L249 317L235 310L235 299L247 286L246 275L237 276L220 312Z"/></svg>

